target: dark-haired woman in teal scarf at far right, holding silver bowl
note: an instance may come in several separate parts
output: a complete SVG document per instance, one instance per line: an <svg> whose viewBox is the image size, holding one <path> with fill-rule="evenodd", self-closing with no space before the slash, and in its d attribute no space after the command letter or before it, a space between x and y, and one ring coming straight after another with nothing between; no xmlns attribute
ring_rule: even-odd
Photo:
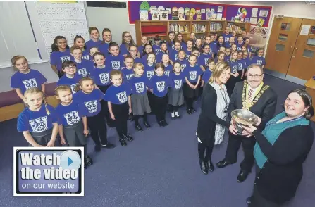
<svg viewBox="0 0 315 207"><path fill-rule="evenodd" d="M250 207L282 206L295 196L303 175L302 164L314 139L309 121L314 115L311 104L311 96L304 89L293 90L285 100L285 111L266 123L262 132L252 125L244 127L257 140L257 176L252 197L247 199Z"/></svg>

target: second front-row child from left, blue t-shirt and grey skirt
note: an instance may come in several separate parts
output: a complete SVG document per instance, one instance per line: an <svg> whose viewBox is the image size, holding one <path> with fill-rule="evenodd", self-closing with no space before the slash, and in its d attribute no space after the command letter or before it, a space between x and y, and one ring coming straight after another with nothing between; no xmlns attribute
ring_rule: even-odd
<svg viewBox="0 0 315 207"><path fill-rule="evenodd" d="M73 94L67 85L58 86L55 89L56 99L60 101L56 107L58 117L58 132L61 144L69 146L83 146L85 155L85 168L92 165L92 159L87 156L87 117L85 111L73 102Z"/></svg>

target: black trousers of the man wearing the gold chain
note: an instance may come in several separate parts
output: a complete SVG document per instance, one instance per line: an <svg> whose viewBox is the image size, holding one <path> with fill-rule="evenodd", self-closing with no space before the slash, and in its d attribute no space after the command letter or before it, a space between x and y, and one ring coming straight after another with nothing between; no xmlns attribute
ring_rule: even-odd
<svg viewBox="0 0 315 207"><path fill-rule="evenodd" d="M237 161L237 151L240 149L240 144L242 144L244 149L244 160L240 163L240 168L242 171L251 172L252 166L254 165L254 145L256 140L254 137L243 137L239 135L228 133L228 147L226 149L226 161L228 163L236 163Z"/></svg>

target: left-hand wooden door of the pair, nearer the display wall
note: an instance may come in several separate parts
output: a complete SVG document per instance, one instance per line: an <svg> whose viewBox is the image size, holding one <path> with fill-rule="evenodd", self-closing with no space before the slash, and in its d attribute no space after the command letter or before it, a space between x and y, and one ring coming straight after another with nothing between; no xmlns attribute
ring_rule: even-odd
<svg viewBox="0 0 315 207"><path fill-rule="evenodd" d="M265 68L287 73L301 23L301 18L275 17L266 52Z"/></svg>

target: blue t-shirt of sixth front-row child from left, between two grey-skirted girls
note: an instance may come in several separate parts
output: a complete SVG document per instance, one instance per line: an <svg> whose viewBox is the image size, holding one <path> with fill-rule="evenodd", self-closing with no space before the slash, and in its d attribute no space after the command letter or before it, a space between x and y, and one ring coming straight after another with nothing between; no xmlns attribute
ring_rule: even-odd
<svg viewBox="0 0 315 207"><path fill-rule="evenodd" d="M154 75L151 80L149 87L153 89L153 94L158 97L164 97L168 92L168 77L166 75L157 76Z"/></svg>

